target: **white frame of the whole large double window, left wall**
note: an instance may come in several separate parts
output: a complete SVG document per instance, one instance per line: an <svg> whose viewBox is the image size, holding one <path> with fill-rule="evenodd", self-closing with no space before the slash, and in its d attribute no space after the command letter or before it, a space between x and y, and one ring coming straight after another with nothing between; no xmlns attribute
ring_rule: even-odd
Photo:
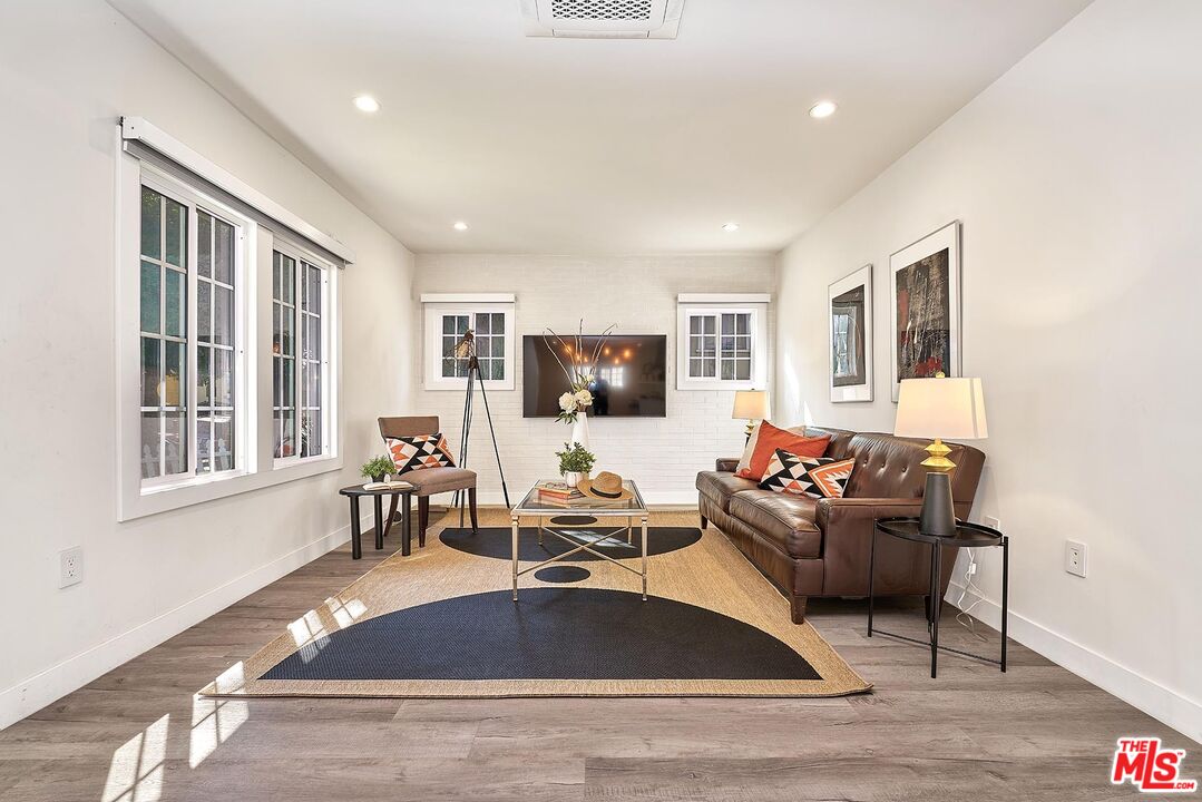
<svg viewBox="0 0 1202 802"><path fill-rule="evenodd" d="M305 251L307 261L323 268L333 268L326 271L328 295L325 299L322 315L327 337L323 361L331 362L329 366L323 366L323 373L327 376L323 398L326 404L323 430L325 436L328 438L329 447L323 455L286 461L284 464L276 465L274 464L274 442L272 440L272 251L279 249L281 244L293 250L298 245L291 236L278 234L273 227L248 220L244 214L231 210L228 203L212 197L201 188L201 184L194 185L175 178L154 165L144 162L137 155L125 152L120 147L120 132L118 132L118 138L114 213L117 227L114 248L117 314L114 315L114 327L118 344L114 462L118 483L118 521L132 521L273 485L341 470L344 464L341 453L344 436L341 415L341 271L317 254L300 249ZM173 147L175 148L173 153L178 152L182 156L188 156L188 166L198 174L227 177L220 168L204 161L195 152L186 150L178 143ZM239 320L236 352L242 361L242 373L236 374L239 376L236 382L236 393L243 394L243 398L240 408L236 403L236 410L239 412L236 415L236 426L239 427L237 436L240 442L240 447L236 451L238 461L236 470L202 476L195 476L190 470L186 475L168 477L174 481L155 480L143 483L142 480L141 206L144 180L154 182L153 184L148 183L148 185L155 191L168 189L169 191L163 194L182 202L186 201L186 197L182 197L180 188L183 188L186 190L185 195L202 201L201 206L210 213L226 221L234 219L242 226L243 242L238 251L239 263L236 267L240 271L238 278L242 281L240 297L236 301L236 317ZM220 182L219 184L225 185ZM262 200L257 195L246 198L236 197L246 203L251 200ZM189 203L189 206L191 204ZM279 212L274 204L272 208ZM195 243L196 228L194 224L189 228L189 249L194 250L194 256ZM343 245L339 248L353 259L353 254L349 249ZM341 256L341 254L339 255ZM190 273L195 273L195 261L190 261ZM190 275L189 283L191 284L192 280L194 278ZM190 290L192 289L190 287ZM195 321L195 305L196 292L192 290L189 293L190 327ZM191 350L190 347L190 354ZM195 384L196 366L192 363L191 356L189 360L189 384ZM195 410L195 387L189 387L189 391L190 406ZM191 411L190 417L195 418L195 411ZM190 438L194 441L190 451L195 451L195 433L190 434ZM190 459L194 459L192 455L190 455Z"/></svg>

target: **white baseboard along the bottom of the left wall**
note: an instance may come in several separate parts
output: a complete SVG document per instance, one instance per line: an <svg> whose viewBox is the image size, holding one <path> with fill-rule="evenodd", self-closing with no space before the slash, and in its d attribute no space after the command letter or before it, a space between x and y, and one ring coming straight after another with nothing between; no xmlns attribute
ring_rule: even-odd
<svg viewBox="0 0 1202 802"><path fill-rule="evenodd" d="M370 516L363 518L363 530L374 525ZM326 552L351 539L350 524L288 552L267 565L213 588L200 596L138 624L120 635L72 655L55 666L28 677L11 688L0 690L0 730L36 713L55 700L87 685L93 679L153 649L189 626L216 614L236 601L267 587Z"/></svg>

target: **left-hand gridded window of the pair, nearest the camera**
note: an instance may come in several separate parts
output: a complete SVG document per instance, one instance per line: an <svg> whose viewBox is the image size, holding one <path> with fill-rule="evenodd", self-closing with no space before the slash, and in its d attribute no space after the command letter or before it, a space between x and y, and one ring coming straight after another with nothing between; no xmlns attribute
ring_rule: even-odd
<svg viewBox="0 0 1202 802"><path fill-rule="evenodd" d="M244 468L245 226L240 215L178 182L143 176L143 487Z"/></svg>

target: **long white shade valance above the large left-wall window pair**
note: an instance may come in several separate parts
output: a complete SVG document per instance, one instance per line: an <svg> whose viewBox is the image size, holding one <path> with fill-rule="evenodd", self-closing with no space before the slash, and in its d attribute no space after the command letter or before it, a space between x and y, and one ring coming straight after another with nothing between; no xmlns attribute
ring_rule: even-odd
<svg viewBox="0 0 1202 802"><path fill-rule="evenodd" d="M320 228L305 222L299 215L293 214L243 182L233 173L209 161L175 137L165 132L162 129L148 123L145 119L141 117L123 117L121 139L125 143L125 149L135 156L139 154L136 148L130 147L131 143L138 143L149 148L168 161L174 162L190 173L204 179L216 189L227 192L233 198L249 206L260 215L275 221L297 236L308 239L331 255L337 256L345 265L355 262L355 251L345 244Z"/></svg>

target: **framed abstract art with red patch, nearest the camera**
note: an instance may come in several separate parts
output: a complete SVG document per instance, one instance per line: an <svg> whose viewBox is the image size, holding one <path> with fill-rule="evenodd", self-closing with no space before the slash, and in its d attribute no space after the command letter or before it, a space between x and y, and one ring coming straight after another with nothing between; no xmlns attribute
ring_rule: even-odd
<svg viewBox="0 0 1202 802"><path fill-rule="evenodd" d="M889 256L893 400L903 379L960 375L960 224Z"/></svg>

